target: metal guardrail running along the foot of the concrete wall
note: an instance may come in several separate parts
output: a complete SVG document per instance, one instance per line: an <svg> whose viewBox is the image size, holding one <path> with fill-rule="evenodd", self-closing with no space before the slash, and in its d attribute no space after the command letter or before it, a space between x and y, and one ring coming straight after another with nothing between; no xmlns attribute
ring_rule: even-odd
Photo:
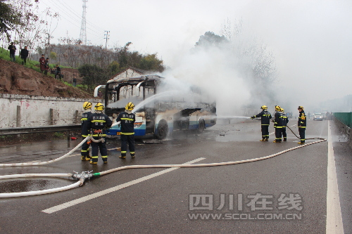
<svg viewBox="0 0 352 234"><path fill-rule="evenodd" d="M67 126L31 126L31 127L14 127L8 129L0 129L0 136L18 135L18 134L39 134L54 131L75 131L80 130L80 125Z"/></svg>

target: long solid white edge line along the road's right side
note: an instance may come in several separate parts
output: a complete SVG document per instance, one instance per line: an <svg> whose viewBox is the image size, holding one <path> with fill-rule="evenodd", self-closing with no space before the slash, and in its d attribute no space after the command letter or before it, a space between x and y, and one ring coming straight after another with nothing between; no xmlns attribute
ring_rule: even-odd
<svg viewBox="0 0 352 234"><path fill-rule="evenodd" d="M342 223L339 186L332 148L332 136L329 121L327 122L327 234L344 234Z"/></svg>

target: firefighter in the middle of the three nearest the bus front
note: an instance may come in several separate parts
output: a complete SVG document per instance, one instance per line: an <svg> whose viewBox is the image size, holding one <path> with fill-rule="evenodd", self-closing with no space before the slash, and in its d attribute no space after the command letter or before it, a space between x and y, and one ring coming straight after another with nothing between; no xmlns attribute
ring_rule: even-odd
<svg viewBox="0 0 352 234"><path fill-rule="evenodd" d="M103 163L108 162L108 150L106 149L106 129L110 128L113 122L108 115L103 114L104 106L97 103L94 106L94 113L89 115L84 129L90 131L92 138L92 159L91 164L98 163L98 155L100 150Z"/></svg>

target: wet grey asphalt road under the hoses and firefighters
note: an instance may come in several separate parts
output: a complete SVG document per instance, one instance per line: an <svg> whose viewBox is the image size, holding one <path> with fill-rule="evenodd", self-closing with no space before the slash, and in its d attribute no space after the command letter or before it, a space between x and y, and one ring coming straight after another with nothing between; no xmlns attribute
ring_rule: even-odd
<svg viewBox="0 0 352 234"><path fill-rule="evenodd" d="M289 126L293 124L295 119ZM327 138L327 128L327 121L310 120L306 137ZM296 126L291 129L298 132ZM273 131L272 126L270 130ZM247 160L296 147L297 138L287 131L288 141L278 144L272 143L273 134L269 142L258 141L260 122L219 124L203 134L175 134L158 144L137 141L134 159L119 159L120 152L115 148L120 143L108 141L108 164L103 164L100 157L98 165L82 162L77 151L46 166L0 168L0 174L96 173L131 164ZM336 144L341 141L338 136L333 139ZM52 160L77 143L71 141L70 148L67 141L0 148L0 163ZM346 150L340 151L343 165L351 163L351 157L344 157ZM346 176L347 169L338 164L337 167L338 176ZM327 142L258 162L164 170L117 171L60 193L1 198L0 233L325 233ZM156 174L160 171L163 174ZM151 178L135 181L144 176ZM351 185L351 176L339 179ZM68 178L3 180L0 193L56 188L74 182ZM341 212L348 220L349 190L343 192L340 196L347 200L341 201ZM54 212L53 207L57 207ZM346 228L345 233L350 230L347 225Z"/></svg>

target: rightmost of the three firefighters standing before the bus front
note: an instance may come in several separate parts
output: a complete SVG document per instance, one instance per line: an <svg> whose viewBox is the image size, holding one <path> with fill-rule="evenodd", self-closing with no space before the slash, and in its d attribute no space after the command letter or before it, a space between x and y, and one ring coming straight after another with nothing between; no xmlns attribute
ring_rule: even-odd
<svg viewBox="0 0 352 234"><path fill-rule="evenodd" d="M121 124L121 156L120 158L126 158L127 153L127 143L130 150L131 157L134 156L134 122L136 121L136 116L132 113L134 108L133 103L127 103L125 106L125 111L120 112L116 122Z"/></svg>

